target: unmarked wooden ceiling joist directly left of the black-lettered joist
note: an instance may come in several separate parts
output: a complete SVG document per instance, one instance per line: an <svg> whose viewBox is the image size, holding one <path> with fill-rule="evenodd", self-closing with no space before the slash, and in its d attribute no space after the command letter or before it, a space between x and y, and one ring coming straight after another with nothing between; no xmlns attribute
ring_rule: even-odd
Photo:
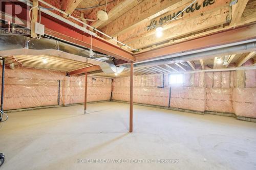
<svg viewBox="0 0 256 170"><path fill-rule="evenodd" d="M169 0L169 1L141 1L137 6L121 15L112 23L102 28L105 34L112 37L121 35L134 29L141 23L151 20L170 10L190 2L188 0Z"/></svg>

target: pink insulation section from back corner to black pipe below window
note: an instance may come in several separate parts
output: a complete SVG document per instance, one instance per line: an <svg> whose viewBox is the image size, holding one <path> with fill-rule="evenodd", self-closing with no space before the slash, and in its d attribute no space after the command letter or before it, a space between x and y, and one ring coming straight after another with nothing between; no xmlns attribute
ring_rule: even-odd
<svg viewBox="0 0 256 170"><path fill-rule="evenodd" d="M162 75L134 77L134 102L168 106L169 88L162 88ZM114 79L113 100L130 100L130 77Z"/></svg>

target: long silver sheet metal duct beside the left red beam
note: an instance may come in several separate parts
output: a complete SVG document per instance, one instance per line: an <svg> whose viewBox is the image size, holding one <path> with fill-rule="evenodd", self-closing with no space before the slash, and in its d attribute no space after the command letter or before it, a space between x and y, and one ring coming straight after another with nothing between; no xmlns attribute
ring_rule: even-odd
<svg viewBox="0 0 256 170"><path fill-rule="evenodd" d="M87 48L75 46L50 38L34 39L25 36L0 36L0 56L15 55L51 55L61 58L87 62L99 65L107 74L120 73L124 67L116 67L113 57L95 53L95 58L89 56Z"/></svg>

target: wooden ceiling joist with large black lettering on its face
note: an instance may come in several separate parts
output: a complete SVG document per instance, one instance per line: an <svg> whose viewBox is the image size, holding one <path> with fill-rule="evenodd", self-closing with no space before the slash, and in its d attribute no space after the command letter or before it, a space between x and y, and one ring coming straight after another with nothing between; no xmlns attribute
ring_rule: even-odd
<svg viewBox="0 0 256 170"><path fill-rule="evenodd" d="M175 10L169 11L161 16L158 16L157 18L154 18L139 25L138 27L130 30L127 33L119 35L118 40L120 40L123 43L130 43L135 39L141 38L142 36L146 37L153 35L156 33L156 27L158 25L161 25L164 30L173 30L178 25L181 25L181 23L186 23L189 20L200 18L200 16L202 15L211 14L212 11L216 11L216 9L219 9L221 7L229 6L229 0L215 1L209 4L206 4L204 2L204 0L198 0L195 4L191 5L191 7L189 7L187 10L180 13L180 15L178 15L175 20L170 21L177 14L179 14L180 11L184 10L191 3L190 1L187 4L180 6Z"/></svg>

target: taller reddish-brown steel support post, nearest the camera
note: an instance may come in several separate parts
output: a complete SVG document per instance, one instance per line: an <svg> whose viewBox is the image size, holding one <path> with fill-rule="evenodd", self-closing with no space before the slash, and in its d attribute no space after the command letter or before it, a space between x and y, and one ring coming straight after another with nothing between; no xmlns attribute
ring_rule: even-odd
<svg viewBox="0 0 256 170"><path fill-rule="evenodd" d="M131 77L130 77L130 130L133 132L133 63L131 63Z"/></svg>

